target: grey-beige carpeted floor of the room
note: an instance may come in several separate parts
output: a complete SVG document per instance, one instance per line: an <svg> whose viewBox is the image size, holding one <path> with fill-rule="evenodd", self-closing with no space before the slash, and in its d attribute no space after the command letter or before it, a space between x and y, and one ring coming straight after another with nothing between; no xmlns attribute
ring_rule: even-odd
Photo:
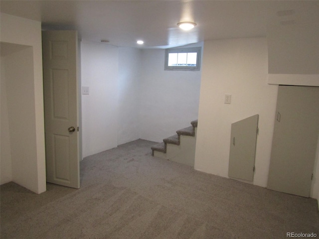
<svg viewBox="0 0 319 239"><path fill-rule="evenodd" d="M319 235L317 200L195 171L136 140L80 163L81 188L1 185L1 239L281 239Z"/></svg>

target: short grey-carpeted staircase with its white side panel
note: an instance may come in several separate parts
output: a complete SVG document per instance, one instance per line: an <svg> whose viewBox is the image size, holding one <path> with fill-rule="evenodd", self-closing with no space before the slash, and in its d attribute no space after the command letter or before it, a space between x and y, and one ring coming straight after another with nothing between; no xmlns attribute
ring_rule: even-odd
<svg viewBox="0 0 319 239"><path fill-rule="evenodd" d="M152 146L152 155L194 166L197 122L197 119L191 121L191 126L177 130L177 134L164 138L162 143Z"/></svg>

